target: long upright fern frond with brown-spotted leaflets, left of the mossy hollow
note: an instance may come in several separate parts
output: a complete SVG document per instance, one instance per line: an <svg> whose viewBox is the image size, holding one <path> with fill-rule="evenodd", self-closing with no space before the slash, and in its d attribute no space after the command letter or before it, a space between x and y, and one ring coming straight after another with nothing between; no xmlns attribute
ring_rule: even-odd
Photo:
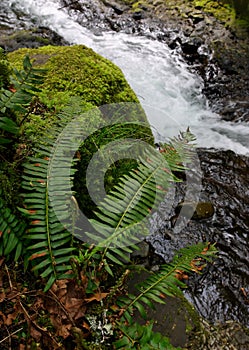
<svg viewBox="0 0 249 350"><path fill-rule="evenodd" d="M50 136L34 149L36 155L24 164L22 188L25 190L22 212L28 215L31 228L26 238L31 251L33 271L48 279L48 290L56 279L69 278L70 259L75 247L73 233L76 212L71 191L75 170L73 159L78 139L91 124L82 119L82 101L72 98L70 106L58 115L58 124ZM78 123L70 124L78 117ZM87 127L87 125L88 127ZM36 242L36 243L34 243Z"/></svg>

